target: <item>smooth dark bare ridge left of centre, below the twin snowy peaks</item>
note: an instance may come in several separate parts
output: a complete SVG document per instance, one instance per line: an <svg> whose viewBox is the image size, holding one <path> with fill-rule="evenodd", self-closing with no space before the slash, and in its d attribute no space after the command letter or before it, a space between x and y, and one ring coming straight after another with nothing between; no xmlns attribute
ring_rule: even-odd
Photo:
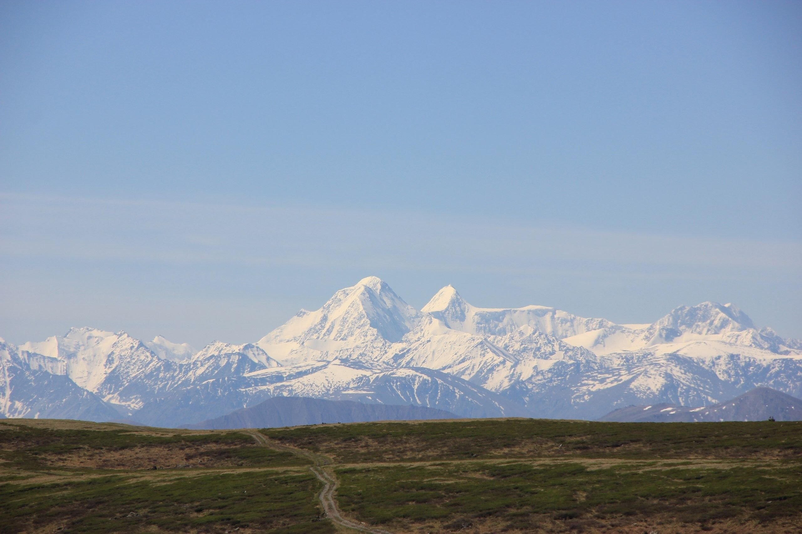
<svg viewBox="0 0 802 534"><path fill-rule="evenodd" d="M459 419L459 416L423 406L363 404L353 400L324 400L309 397L273 397L226 416L181 425L181 428L219 430L225 428L280 428L305 424L364 423L390 420Z"/></svg>

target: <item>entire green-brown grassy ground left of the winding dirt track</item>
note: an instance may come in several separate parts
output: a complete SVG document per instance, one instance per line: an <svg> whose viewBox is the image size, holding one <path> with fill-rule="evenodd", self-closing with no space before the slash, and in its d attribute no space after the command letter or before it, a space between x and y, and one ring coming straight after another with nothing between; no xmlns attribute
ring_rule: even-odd
<svg viewBox="0 0 802 534"><path fill-rule="evenodd" d="M0 423L0 532L334 532L321 518L309 460L257 446L244 432L47 424ZM207 464L152 470L65 461L120 452Z"/></svg>

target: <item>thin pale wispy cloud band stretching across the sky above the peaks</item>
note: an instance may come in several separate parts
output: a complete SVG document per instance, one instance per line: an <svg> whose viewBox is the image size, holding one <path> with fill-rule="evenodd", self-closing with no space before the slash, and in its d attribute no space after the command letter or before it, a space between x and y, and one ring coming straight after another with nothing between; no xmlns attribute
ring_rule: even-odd
<svg viewBox="0 0 802 534"><path fill-rule="evenodd" d="M537 271L572 263L800 272L802 243L528 227L320 207L3 194L2 247L32 259Z"/></svg>

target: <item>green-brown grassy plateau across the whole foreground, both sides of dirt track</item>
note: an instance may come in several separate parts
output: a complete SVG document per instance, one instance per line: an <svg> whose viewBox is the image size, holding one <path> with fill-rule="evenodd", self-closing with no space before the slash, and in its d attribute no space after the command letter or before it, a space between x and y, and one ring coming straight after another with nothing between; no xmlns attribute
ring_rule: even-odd
<svg viewBox="0 0 802 534"><path fill-rule="evenodd" d="M250 432L250 433L249 433ZM0 532L802 532L802 422L0 421Z"/></svg>

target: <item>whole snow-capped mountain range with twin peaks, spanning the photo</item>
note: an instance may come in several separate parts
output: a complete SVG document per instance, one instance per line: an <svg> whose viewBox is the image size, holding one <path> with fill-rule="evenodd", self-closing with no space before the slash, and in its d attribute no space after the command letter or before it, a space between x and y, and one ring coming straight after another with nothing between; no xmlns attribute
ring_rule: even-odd
<svg viewBox="0 0 802 534"><path fill-rule="evenodd" d="M802 342L756 328L732 304L616 324L552 307L473 307L447 286L418 311L375 276L256 343L194 351L73 328L19 347L0 339L0 368L2 416L161 426L278 395L572 419L715 404L759 386L802 395Z"/></svg>

